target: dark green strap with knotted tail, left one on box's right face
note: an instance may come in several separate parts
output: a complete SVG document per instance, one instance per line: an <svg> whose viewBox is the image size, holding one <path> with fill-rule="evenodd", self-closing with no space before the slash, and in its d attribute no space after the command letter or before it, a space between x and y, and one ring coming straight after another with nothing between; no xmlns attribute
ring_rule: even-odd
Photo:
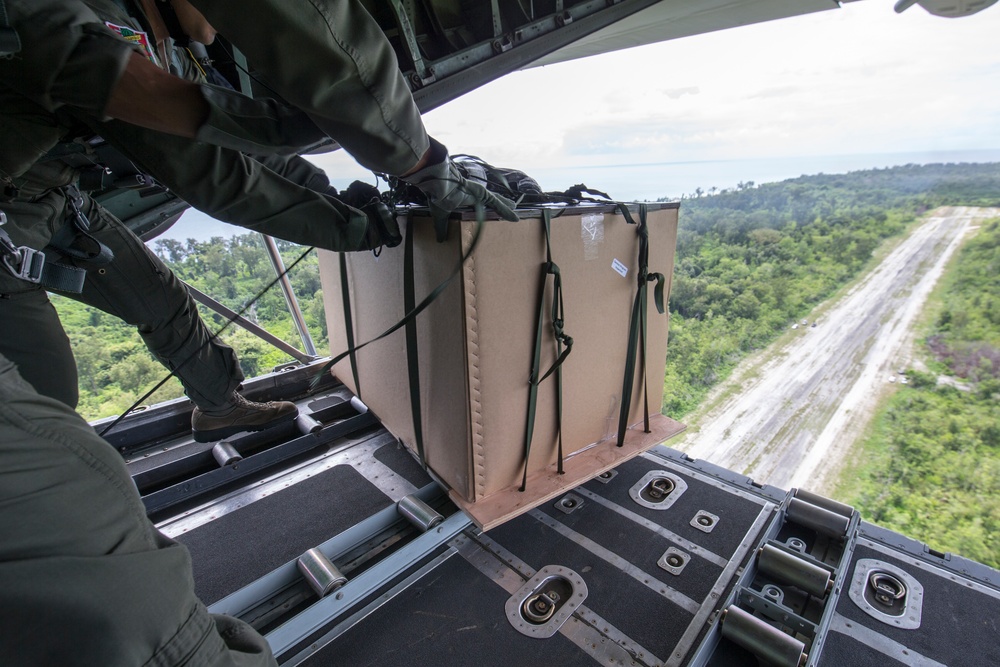
<svg viewBox="0 0 1000 667"><path fill-rule="evenodd" d="M528 379L528 421L524 435L524 476L521 479L519 491L524 491L528 486L528 457L531 454L531 440L535 430L535 409L538 401L538 385L542 383L553 371L556 374L556 431L559 434L559 474L563 474L563 446L562 446L562 364L566 357L573 351L573 339L563 331L563 298L562 298L562 275L559 267L552 261L552 211L542 209L542 222L545 228L545 263L542 264L542 280L538 294L538 319L535 326L535 352L531 361L531 377ZM552 367L539 377L542 358L542 332L545 319L545 287L548 283L548 276L552 276L552 311L549 318L552 324L552 333L556 340L556 360ZM563 349L563 344L566 349Z"/></svg>

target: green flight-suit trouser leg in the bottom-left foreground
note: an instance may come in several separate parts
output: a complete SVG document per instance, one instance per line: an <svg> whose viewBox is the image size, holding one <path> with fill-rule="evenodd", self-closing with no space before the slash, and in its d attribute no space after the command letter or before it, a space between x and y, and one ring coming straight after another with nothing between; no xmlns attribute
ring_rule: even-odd
<svg viewBox="0 0 1000 667"><path fill-rule="evenodd" d="M245 623L195 597L121 456L0 356L0 664L263 667Z"/></svg>

